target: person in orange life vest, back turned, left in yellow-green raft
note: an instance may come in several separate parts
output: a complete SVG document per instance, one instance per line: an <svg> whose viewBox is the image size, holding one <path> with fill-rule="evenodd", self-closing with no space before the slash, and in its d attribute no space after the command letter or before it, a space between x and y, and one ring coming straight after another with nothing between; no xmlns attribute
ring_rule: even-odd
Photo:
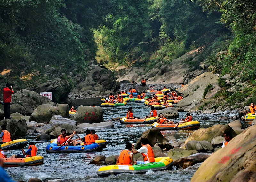
<svg viewBox="0 0 256 182"><path fill-rule="evenodd" d="M132 144L126 142L125 150L122 150L117 158L116 165L135 165L133 160Z"/></svg>

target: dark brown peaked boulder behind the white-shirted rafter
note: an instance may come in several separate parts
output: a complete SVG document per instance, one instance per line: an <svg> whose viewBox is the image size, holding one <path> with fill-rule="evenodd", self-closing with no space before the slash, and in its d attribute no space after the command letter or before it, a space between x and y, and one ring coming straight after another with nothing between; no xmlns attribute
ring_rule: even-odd
<svg viewBox="0 0 256 182"><path fill-rule="evenodd" d="M144 131L142 133L142 136L139 138L139 140L136 142L135 148L140 149L140 139L141 138L147 138L148 141L151 143L151 146L154 146L156 143L163 143L163 142L169 142L164 136L161 134L160 130L157 128L151 128L147 131Z"/></svg>

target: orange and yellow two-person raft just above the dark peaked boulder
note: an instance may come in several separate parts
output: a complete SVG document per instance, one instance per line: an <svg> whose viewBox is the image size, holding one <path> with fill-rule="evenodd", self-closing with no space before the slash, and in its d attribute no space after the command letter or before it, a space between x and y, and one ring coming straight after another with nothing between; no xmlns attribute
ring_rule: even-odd
<svg viewBox="0 0 256 182"><path fill-rule="evenodd" d="M159 130L185 130L185 129L198 129L200 123L198 121L190 121L186 123L180 123L176 128L177 124L162 124L155 122L151 125L152 128L158 128Z"/></svg>

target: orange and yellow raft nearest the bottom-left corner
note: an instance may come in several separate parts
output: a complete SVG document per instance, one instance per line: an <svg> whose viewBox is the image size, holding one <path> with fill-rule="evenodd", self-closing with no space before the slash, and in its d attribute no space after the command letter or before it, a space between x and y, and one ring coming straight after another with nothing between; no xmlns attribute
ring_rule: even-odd
<svg viewBox="0 0 256 182"><path fill-rule="evenodd" d="M17 167L17 166L35 166L44 164L42 156L33 156L25 158L3 158L3 167Z"/></svg>

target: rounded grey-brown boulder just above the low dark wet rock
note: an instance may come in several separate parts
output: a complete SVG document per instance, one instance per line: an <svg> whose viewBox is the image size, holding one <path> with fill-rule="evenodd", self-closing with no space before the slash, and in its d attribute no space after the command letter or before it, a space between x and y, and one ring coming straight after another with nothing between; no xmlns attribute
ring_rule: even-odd
<svg viewBox="0 0 256 182"><path fill-rule="evenodd" d="M208 141L189 141L185 145L186 150L196 150L198 152L212 151L213 147Z"/></svg>

